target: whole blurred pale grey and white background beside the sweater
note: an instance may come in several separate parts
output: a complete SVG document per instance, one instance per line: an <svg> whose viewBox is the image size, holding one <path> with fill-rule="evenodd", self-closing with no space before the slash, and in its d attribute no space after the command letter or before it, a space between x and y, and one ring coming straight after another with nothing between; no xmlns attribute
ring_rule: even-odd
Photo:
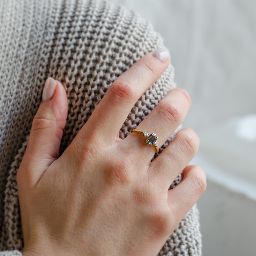
<svg viewBox="0 0 256 256"><path fill-rule="evenodd" d="M193 101L207 189L198 202L204 256L256 255L256 1L111 0L164 38L177 86Z"/></svg>

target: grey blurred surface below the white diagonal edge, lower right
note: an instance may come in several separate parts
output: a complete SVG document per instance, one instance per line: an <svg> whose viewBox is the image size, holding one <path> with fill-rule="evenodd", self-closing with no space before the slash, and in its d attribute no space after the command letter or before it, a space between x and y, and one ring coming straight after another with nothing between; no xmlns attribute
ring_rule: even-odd
<svg viewBox="0 0 256 256"><path fill-rule="evenodd" d="M212 181L198 202L203 256L256 255L256 202Z"/></svg>

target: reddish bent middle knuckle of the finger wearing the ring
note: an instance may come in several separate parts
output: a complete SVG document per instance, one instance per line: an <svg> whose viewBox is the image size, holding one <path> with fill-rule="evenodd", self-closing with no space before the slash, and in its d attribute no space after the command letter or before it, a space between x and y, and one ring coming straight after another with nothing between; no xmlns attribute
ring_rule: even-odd
<svg viewBox="0 0 256 256"><path fill-rule="evenodd" d="M166 119L166 121L168 123L180 123L181 122L181 114L175 105L160 101L158 108L159 108L160 115L164 119Z"/></svg>

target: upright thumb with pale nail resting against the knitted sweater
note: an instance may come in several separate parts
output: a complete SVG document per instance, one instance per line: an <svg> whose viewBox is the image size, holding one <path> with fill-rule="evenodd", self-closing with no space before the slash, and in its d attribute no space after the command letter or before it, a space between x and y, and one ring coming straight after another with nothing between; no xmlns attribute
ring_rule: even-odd
<svg viewBox="0 0 256 256"><path fill-rule="evenodd" d="M59 156L62 130L68 115L68 98L59 81L48 78L42 93L42 103L33 119L31 133L22 165L25 175L36 182Z"/></svg>

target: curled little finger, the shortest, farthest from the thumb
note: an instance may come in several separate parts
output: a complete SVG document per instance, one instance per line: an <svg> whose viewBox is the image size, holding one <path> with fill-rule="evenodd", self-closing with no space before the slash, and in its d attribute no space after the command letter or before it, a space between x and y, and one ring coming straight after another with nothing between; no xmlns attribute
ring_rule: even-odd
<svg viewBox="0 0 256 256"><path fill-rule="evenodd" d="M183 180L167 192L168 203L178 223L203 195L206 189L206 176L197 165L188 165L183 170Z"/></svg>

